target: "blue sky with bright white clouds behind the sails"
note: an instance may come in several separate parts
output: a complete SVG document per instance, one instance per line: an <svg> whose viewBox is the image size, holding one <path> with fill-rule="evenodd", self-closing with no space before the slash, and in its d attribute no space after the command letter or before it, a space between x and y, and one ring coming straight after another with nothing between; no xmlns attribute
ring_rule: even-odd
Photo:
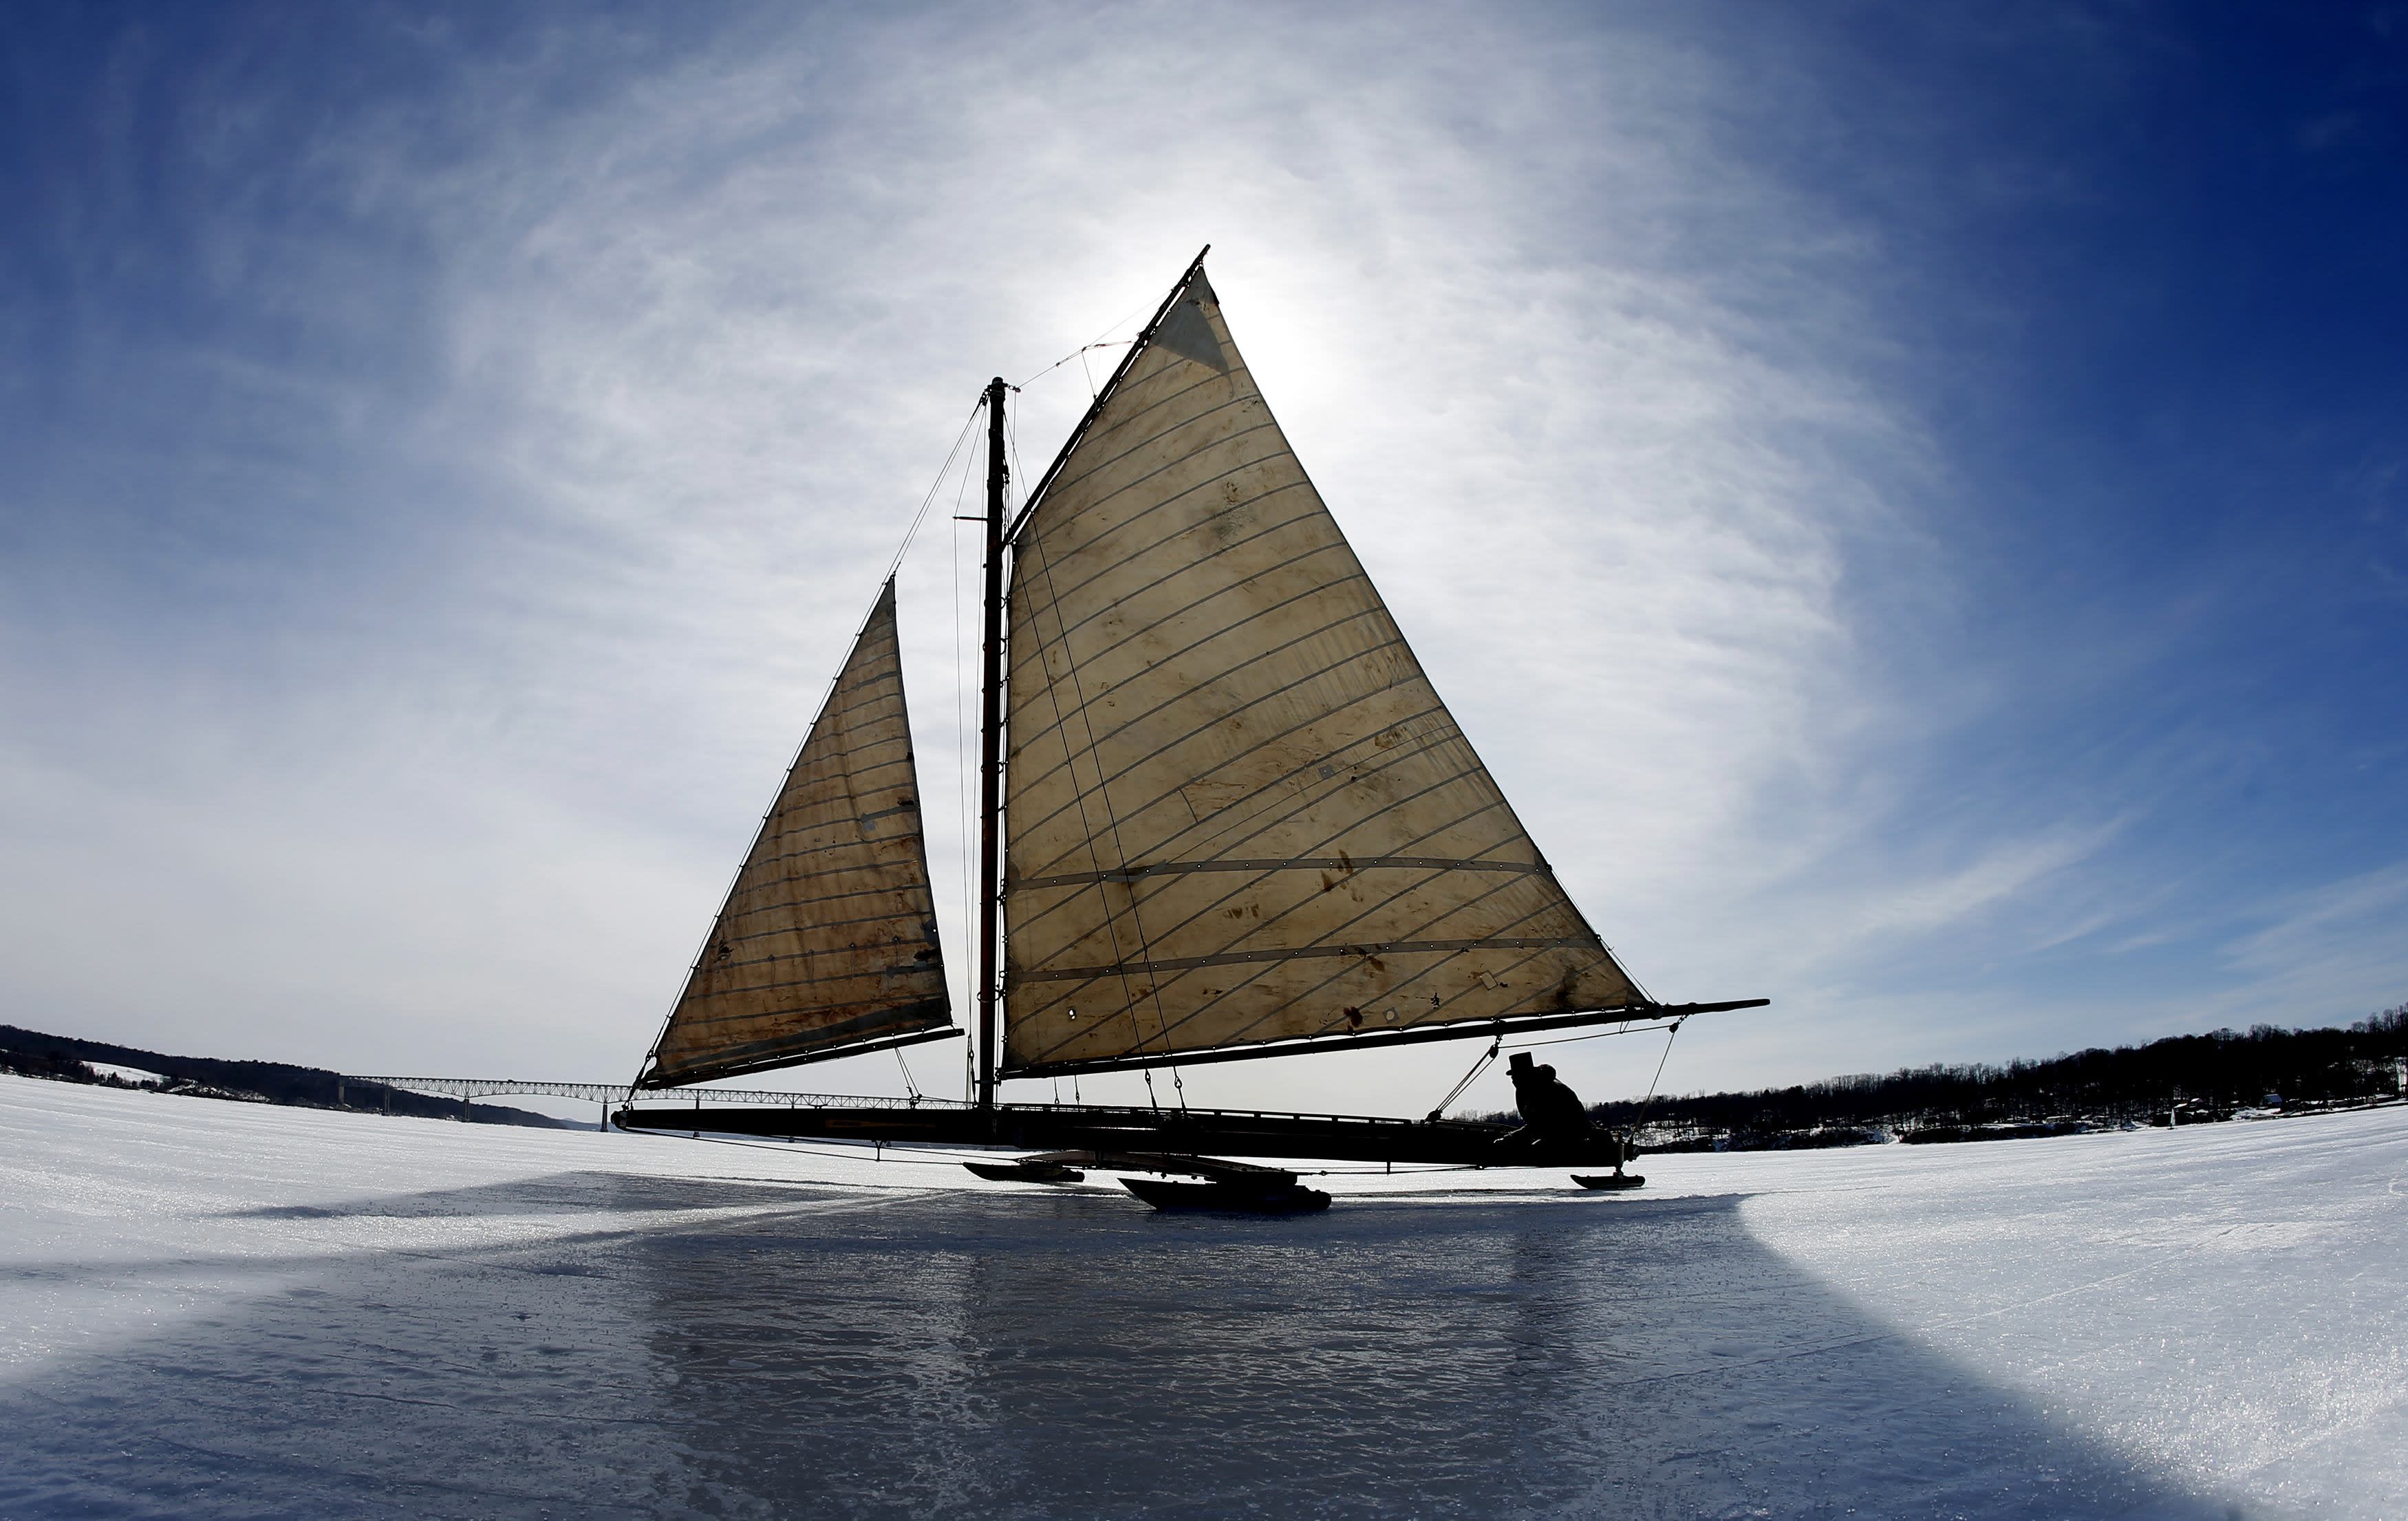
<svg viewBox="0 0 2408 1521"><path fill-rule="evenodd" d="M1592 924L1772 999L1582 1095L2408 1001L2408 7L14 5L0 70L0 1023L633 1073L922 503L966 984L946 457L1004 375L1040 469L1204 243Z"/></svg>

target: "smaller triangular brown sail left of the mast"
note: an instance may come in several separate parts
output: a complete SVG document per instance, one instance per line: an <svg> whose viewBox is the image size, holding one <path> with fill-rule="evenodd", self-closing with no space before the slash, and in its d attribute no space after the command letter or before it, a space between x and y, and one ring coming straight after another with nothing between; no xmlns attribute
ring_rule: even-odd
<svg viewBox="0 0 2408 1521"><path fill-rule="evenodd" d="M934 1040L951 1023L889 580L638 1085Z"/></svg>

